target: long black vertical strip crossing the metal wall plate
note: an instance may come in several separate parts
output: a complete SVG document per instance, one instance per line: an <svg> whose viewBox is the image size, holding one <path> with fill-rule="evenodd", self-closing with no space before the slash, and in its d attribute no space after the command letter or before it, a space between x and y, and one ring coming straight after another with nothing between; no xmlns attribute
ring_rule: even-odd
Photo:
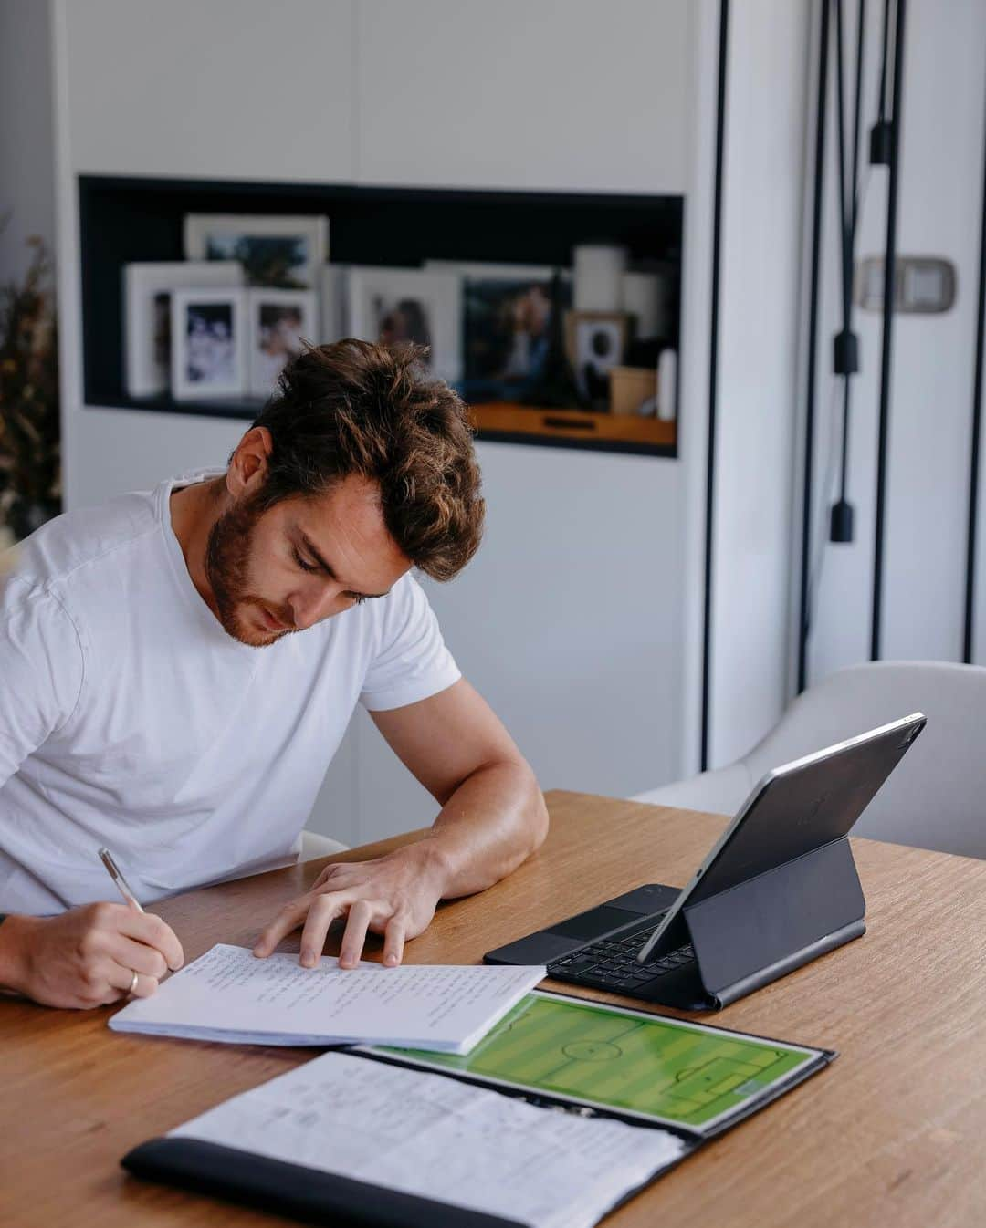
<svg viewBox="0 0 986 1228"><path fill-rule="evenodd" d="M886 249L883 278L883 338L880 346L880 426L877 445L877 515L873 534L873 615L869 659L880 659L883 614L883 538L886 503L886 447L890 427L890 359L894 330L894 260L897 254L897 190L900 187L900 128L904 80L904 32L907 0L896 0L894 23L894 103L890 117L890 177L886 189Z"/></svg>

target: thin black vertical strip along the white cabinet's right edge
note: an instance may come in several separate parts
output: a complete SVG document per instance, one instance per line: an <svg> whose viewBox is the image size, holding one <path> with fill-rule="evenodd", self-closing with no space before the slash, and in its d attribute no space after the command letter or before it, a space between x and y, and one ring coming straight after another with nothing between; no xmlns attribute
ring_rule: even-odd
<svg viewBox="0 0 986 1228"><path fill-rule="evenodd" d="M712 539L716 489L716 408L719 367L719 264L723 230L723 146L725 144L725 69L729 36L729 0L719 4L719 68L716 98L716 184L712 211L712 319L709 322L708 438L706 457L706 577L702 628L702 743L701 770L708 766L708 726L712 669Z"/></svg>

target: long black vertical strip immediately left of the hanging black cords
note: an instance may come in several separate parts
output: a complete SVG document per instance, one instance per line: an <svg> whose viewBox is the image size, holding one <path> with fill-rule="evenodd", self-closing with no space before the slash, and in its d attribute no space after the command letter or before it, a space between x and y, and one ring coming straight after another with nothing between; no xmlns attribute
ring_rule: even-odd
<svg viewBox="0 0 986 1228"><path fill-rule="evenodd" d="M825 181L825 104L829 81L829 5L821 0L819 81L815 111L815 181L811 199L811 287L808 306L808 387L804 398L804 488L802 491L802 577L798 615L798 694L808 685L808 636L811 631L811 470L815 463L815 382L818 379L819 289L821 273L822 187Z"/></svg>

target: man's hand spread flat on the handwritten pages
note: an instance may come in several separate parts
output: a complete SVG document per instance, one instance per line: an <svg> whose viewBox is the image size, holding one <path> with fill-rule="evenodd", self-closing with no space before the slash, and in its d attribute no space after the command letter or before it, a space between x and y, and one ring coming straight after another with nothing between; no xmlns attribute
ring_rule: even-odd
<svg viewBox="0 0 986 1228"><path fill-rule="evenodd" d="M304 925L301 963L315 968L328 927L345 916L341 966L357 966L368 931L384 935L384 963L393 966L401 963L404 939L428 928L444 888L445 869L430 840L373 861L336 862L326 866L310 892L284 905L253 954L266 958L285 935Z"/></svg>

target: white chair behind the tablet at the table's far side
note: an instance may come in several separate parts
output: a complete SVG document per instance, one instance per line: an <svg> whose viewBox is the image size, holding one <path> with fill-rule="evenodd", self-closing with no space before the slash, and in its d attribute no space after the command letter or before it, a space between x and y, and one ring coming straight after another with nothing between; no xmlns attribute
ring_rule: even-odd
<svg viewBox="0 0 986 1228"><path fill-rule="evenodd" d="M986 668L880 661L799 695L741 759L633 801L735 814L771 768L921 711L928 723L867 807L853 835L986 857Z"/></svg>

